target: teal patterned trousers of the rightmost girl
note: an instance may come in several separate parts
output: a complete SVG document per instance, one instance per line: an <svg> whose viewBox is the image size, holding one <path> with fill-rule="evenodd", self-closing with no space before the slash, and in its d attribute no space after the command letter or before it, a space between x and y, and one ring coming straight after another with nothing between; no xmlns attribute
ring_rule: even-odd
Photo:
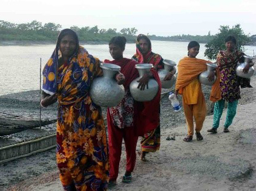
<svg viewBox="0 0 256 191"><path fill-rule="evenodd" d="M235 113L237 113L237 104L238 100L235 99L233 102L228 102L228 111L226 116L226 121L224 124L225 128L228 128L229 125L232 124L232 121L235 117ZM214 123L212 128L218 128L220 125L220 117L222 117L223 109L225 106L225 100L221 99L220 101L215 102L214 104Z"/></svg>

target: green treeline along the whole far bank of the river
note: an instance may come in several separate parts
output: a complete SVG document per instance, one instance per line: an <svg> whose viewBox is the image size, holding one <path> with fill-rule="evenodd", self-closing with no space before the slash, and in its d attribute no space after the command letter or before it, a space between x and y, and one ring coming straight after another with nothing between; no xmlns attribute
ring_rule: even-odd
<svg viewBox="0 0 256 191"><path fill-rule="evenodd" d="M240 25L239 25L240 26ZM122 35L125 36L127 41L130 43L135 42L136 39L136 28L123 28L117 31L116 28L99 29L94 27L82 27L77 26L70 27L72 30L76 31L79 36L79 41L81 43L107 43L111 37ZM30 23L11 23L4 20L0 20L0 43L15 41L17 43L34 42L34 43L54 43L56 41L57 34L62 29L62 26L56 23L45 23L33 20ZM149 31L150 33L150 31ZM191 40L196 40L199 43L208 43L214 39L215 35L211 35L209 31L207 35L192 36L189 34L182 34L176 36L156 36L151 34L148 35L151 40L162 40L162 41L174 41L174 42L189 42ZM256 44L256 34L248 36L249 41L247 45Z"/></svg>

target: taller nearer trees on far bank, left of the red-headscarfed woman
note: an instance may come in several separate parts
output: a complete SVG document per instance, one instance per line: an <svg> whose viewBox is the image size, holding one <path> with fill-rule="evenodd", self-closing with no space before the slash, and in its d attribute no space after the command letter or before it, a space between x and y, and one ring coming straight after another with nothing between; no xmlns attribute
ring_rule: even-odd
<svg viewBox="0 0 256 191"><path fill-rule="evenodd" d="M57 39L57 35L62 26L56 23L45 23L33 20L30 23L11 23L4 20L0 20L0 40L20 40L20 41L50 41L54 42ZM82 27L77 26L70 27L76 31L79 36L80 42L108 42L111 37L122 35L125 36L128 42L134 42L134 36L137 33L136 28L123 28L119 32L116 28L109 28L108 30L99 29L94 27Z"/></svg>

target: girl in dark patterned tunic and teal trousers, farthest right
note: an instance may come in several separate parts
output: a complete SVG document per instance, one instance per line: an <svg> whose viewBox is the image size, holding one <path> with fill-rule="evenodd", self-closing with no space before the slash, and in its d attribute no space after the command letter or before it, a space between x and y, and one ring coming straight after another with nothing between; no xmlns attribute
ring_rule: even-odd
<svg viewBox="0 0 256 191"><path fill-rule="evenodd" d="M224 124L223 132L229 132L229 126L235 117L237 111L238 99L240 99L240 84L238 82L238 77L235 73L235 67L238 62L244 60L243 52L235 49L237 41L235 37L228 36L225 39L225 51L218 52L217 64L220 70L220 95L221 99L215 102L214 105L214 122L212 128L207 130L210 133L217 133L217 128L220 124L220 117L222 116L223 108L225 106L225 101L228 102L228 111L226 116L226 122ZM252 63L248 63L243 69L243 72L248 73L249 67Z"/></svg>

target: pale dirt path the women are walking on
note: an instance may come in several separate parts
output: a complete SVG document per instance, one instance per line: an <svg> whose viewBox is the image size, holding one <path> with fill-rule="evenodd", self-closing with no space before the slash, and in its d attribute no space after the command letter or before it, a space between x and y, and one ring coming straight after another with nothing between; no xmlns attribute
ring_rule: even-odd
<svg viewBox="0 0 256 191"><path fill-rule="evenodd" d="M256 190L255 122L256 103L252 103L238 107L230 133L223 133L222 128L217 134L206 133L212 124L212 116L208 116L202 142L182 141L185 124L166 129L162 132L160 151L149 154L146 162L137 160L131 184L120 180L125 170L122 154L117 186L111 190ZM176 140L166 140L168 135L175 135ZM57 191L62 187L57 171L53 171L10 190Z"/></svg>

